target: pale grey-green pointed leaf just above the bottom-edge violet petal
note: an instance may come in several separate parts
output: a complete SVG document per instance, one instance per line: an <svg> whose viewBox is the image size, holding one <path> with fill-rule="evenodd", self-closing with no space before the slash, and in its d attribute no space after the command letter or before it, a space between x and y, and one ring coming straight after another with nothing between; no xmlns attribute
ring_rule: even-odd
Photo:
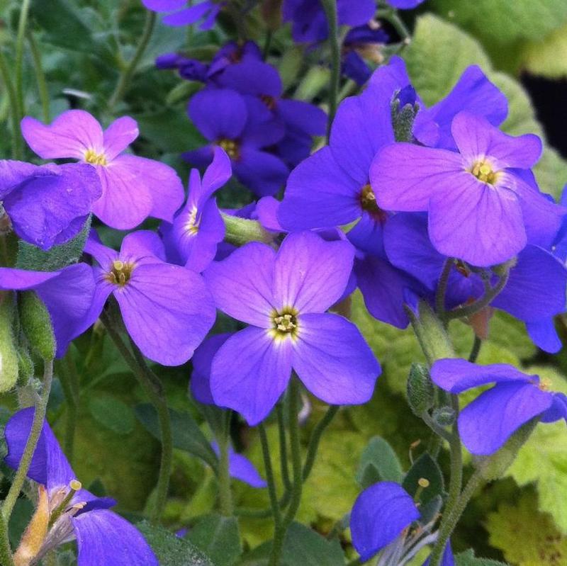
<svg viewBox="0 0 567 566"><path fill-rule="evenodd" d="M376 482L403 480L402 465L393 448L380 436L374 436L364 448L357 471L357 481L363 487Z"/></svg>

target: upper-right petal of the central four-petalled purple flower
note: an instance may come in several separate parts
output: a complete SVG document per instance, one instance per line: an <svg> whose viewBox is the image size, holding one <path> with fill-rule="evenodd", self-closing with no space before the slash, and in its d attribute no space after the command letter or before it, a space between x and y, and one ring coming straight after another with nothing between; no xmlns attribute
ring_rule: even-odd
<svg viewBox="0 0 567 566"><path fill-rule="evenodd" d="M313 232L288 234L274 264L276 307L324 312L347 287L353 261L348 242L326 242Z"/></svg>

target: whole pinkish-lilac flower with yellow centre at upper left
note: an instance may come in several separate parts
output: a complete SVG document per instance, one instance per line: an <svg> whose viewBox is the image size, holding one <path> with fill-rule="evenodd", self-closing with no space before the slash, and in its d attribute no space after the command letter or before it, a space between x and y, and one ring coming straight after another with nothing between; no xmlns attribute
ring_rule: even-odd
<svg viewBox="0 0 567 566"><path fill-rule="evenodd" d="M21 128L28 145L42 159L70 157L96 169L102 196L92 211L108 226L130 230L147 216L171 222L183 202L183 185L171 167L122 154L138 135L135 120L128 116L103 131L88 112L69 110L48 126L27 116Z"/></svg>

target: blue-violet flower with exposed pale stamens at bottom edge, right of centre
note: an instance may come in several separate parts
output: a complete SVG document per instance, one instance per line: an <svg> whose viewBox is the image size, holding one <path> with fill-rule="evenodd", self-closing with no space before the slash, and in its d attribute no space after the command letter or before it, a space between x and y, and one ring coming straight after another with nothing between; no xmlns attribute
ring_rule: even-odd
<svg viewBox="0 0 567 566"><path fill-rule="evenodd" d="M417 523L420 518L415 502L401 485L378 482L364 489L350 516L352 544L360 562L382 551L378 564L405 564L423 547L434 543L437 533L432 533L432 528L436 519L422 524ZM454 566L450 544L444 550L442 566Z"/></svg>

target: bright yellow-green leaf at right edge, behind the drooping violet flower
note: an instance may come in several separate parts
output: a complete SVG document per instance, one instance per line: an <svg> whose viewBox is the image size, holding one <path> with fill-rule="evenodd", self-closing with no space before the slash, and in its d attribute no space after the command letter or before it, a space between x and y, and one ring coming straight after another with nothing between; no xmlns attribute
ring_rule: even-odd
<svg viewBox="0 0 567 566"><path fill-rule="evenodd" d="M527 373L537 373L551 380L551 390L567 393L562 375L550 368L533 366ZM522 446L515 462L507 472L518 485L535 483L539 509L553 516L557 527L567 534L567 434L565 423L540 423Z"/></svg>

